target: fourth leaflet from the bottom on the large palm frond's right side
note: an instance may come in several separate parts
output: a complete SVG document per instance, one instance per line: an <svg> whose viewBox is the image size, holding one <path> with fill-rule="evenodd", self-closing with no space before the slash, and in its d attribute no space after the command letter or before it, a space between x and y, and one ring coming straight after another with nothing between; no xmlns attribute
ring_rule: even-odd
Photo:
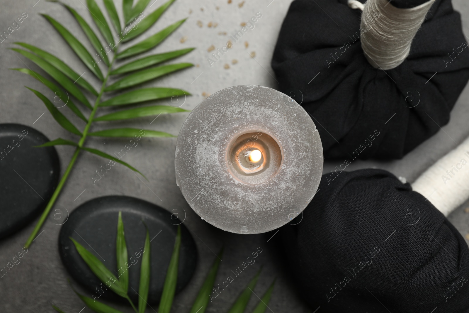
<svg viewBox="0 0 469 313"><path fill-rule="evenodd" d="M108 99L99 104L100 107L120 106L138 102L173 98L179 96L190 96L189 92L177 88L142 88Z"/></svg>

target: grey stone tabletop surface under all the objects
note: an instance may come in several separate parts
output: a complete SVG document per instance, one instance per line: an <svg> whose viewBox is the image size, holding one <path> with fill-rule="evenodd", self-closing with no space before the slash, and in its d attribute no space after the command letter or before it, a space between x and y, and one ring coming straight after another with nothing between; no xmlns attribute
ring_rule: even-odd
<svg viewBox="0 0 469 313"><path fill-rule="evenodd" d="M159 0L162 1L162 0ZM73 5L76 10L85 16L91 23L87 9L83 6L84 0L66 1ZM98 1L100 2L100 1ZM120 3L120 1L118 1ZM153 1L151 1L152 3ZM181 61L189 61L199 64L183 70L175 75L162 77L160 82L155 81L146 86L170 86L180 87L188 90L193 96L188 97L184 108L193 109L204 99L203 93L212 94L221 89L241 84L257 84L275 87L270 60L273 47L281 22L287 12L290 0L258 0L242 1L233 0L227 4L226 0L177 0L167 10L165 15L155 26L155 30L183 17L189 17L173 35L156 48L155 52L164 52L185 47L197 47L196 50L180 58ZM100 2L101 3L101 2ZM241 3L243 5L240 7ZM454 7L462 14L464 31L469 34L469 2L465 0L454 0ZM150 10L160 3L157 2ZM203 6L203 8L201 8ZM217 6L219 7L217 9ZM120 6L118 6L119 9ZM83 73L87 69L78 61L73 52L66 46L64 41L53 31L52 27L38 13L48 13L61 23L64 23L77 37L86 42L83 34L79 31L76 23L68 12L57 4L45 0L1 0L0 1L0 32L7 31L14 20L26 12L28 17L21 27L13 31L8 38L0 44L0 122L18 122L32 125L43 132L47 137L72 138L65 130L61 129L52 116L45 110L42 102L23 85L28 85L44 91L41 84L29 76L8 70L8 68L26 67L37 69L30 61L19 57L17 53L7 50L13 46L15 41L25 41L30 44L46 48L46 50L59 55L68 64ZM192 12L189 14L189 12ZM212 52L207 52L210 46L222 47L228 40L227 34L239 31L240 23L247 22L252 16L260 12L262 17L255 23L254 29L243 35L242 41L234 43L220 61L212 67L207 57ZM201 21L202 27L197 26ZM212 27L207 24L212 22ZM213 27L218 23L217 27ZM94 27L94 25L93 25ZM318 30L320 31L320 30ZM220 33L220 34L219 34ZM180 39L186 37L184 43ZM245 47L244 42L248 42ZM89 47L89 46L87 46ZM255 58L250 53L255 52ZM237 63L233 64L233 60ZM25 65L26 64L26 65ZM229 67L229 69L225 69ZM312 76L314 73L312 73ZM438 75L438 74L437 74ZM311 76L311 77L312 77ZM85 73L92 84L97 85L96 79L89 72ZM348 168L350 170L365 167L384 168L393 172L396 176L404 176L410 182L428 168L435 160L438 160L447 151L469 135L469 90L465 89L458 100L453 112L451 122L443 127L431 139L424 142L402 160L390 162L377 161L354 161ZM43 115L43 113L45 113ZM67 112L68 114L68 112ZM71 115L71 120L77 125L81 123ZM126 126L145 127L153 130L165 130L177 134L187 114L159 116L150 125L153 118L143 118L126 122ZM115 126L115 123L111 123ZM99 129L102 125L97 124L93 129ZM127 140L104 139L103 144L99 139L90 138L87 145L102 148L108 153L120 151ZM277 276L277 284L273 293L272 302L269 307L275 313L307 312L306 306L295 296L294 291L287 282L287 275L280 272L276 262L275 254L267 247L269 234L243 236L223 232L202 221L187 205L182 197L179 187L175 183L174 175L174 149L176 139L142 139L139 144L130 149L123 158L124 161L132 163L144 171L149 182L141 181L128 168L115 166L108 171L96 184L93 185L95 171L104 166L107 161L90 154L81 154L76 167L72 171L68 183L65 185L55 208L63 208L68 211L91 198L104 195L128 195L154 202L167 210L185 209L187 217L185 224L192 230L199 249L200 260L197 265L196 274L176 298L174 312L188 312L190 304L197 294L197 288L201 285L208 268L215 258L214 252L218 252L222 245L225 246L225 255L220 267L216 282L223 282L228 273L240 266L248 254L255 252L257 247L263 249L256 259L256 263L247 267L242 275L236 277L228 288L223 290L217 298L213 299L207 312L224 312L229 303L237 296L238 292L256 273L260 264L264 264L259 283L255 293L260 296L270 284L274 276ZM73 149L67 146L57 148L62 172L70 159ZM324 173L334 168L333 162L325 164ZM1 177L0 179L8 179ZM463 235L468 233L469 214L465 213L462 206L450 216L450 220L461 231ZM61 264L57 251L57 239L60 226L55 225L53 215L49 216L43 227L44 232L35 240L30 250L24 254L21 263L13 266L2 278L0 278L0 312L53 312L50 304L59 305L65 312L80 312L83 303L76 297L68 286L68 274ZM0 267L7 265L17 252L22 251L30 231L34 225L30 224L12 237L0 242ZM41 230L42 231L42 230ZM231 274L230 274L231 275ZM81 290L83 291L83 290ZM249 308L257 302L252 297ZM132 312L129 307L120 307L122 312ZM156 311L156 308L154 308ZM85 308L82 313L91 312ZM147 312L151 312L148 309Z"/></svg>

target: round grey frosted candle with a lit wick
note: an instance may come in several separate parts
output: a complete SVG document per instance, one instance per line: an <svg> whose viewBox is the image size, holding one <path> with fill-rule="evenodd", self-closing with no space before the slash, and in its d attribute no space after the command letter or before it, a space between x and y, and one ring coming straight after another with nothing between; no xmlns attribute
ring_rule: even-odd
<svg viewBox="0 0 469 313"><path fill-rule="evenodd" d="M176 145L176 182L192 209L233 233L291 221L310 203L323 168L318 130L274 89L243 85L214 93L188 116Z"/></svg>

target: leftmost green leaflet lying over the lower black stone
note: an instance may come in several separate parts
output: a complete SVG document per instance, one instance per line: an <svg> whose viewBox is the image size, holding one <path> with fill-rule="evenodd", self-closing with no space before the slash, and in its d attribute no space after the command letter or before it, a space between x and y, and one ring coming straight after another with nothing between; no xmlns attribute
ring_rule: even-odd
<svg viewBox="0 0 469 313"><path fill-rule="evenodd" d="M83 148L83 149L87 150L89 148ZM73 244L75 244L76 251L80 254L83 261L85 261L86 265L90 267L91 272L93 272L94 275L96 275L101 282L106 284L106 287L108 287L107 283L109 283L110 287L108 288L113 290L119 296L123 298L127 298L127 292L125 292L122 289L121 283L117 280L116 276L110 270L108 270L106 266L104 266L104 264L100 260L98 260L97 257L95 257L88 250L86 250L85 247L83 247L83 245L79 244L72 237L70 237L70 240L72 240Z"/></svg>

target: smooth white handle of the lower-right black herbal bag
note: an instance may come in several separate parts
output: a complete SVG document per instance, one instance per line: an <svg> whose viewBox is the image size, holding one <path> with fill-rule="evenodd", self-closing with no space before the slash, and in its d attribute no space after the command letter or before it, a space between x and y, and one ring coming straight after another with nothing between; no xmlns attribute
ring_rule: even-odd
<svg viewBox="0 0 469 313"><path fill-rule="evenodd" d="M469 138L428 168L412 184L447 216L469 198Z"/></svg>

